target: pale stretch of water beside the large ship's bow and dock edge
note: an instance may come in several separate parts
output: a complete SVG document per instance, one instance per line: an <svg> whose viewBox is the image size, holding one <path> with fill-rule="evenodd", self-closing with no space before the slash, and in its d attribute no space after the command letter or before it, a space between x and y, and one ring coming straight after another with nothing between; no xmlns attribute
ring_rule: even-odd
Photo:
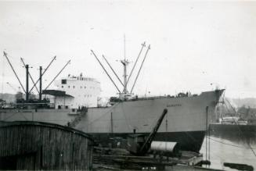
<svg viewBox="0 0 256 171"><path fill-rule="evenodd" d="M210 138L207 138L207 141L208 140L210 140L210 168L237 170L223 166L224 162L234 162L251 165L254 167L254 170L256 170L255 132L247 134L238 134L235 132L211 134ZM202 145L202 148L200 150L200 153L203 153L204 155L204 159L206 156L205 141L206 138L204 138L204 144ZM251 147L248 144L250 144Z"/></svg>

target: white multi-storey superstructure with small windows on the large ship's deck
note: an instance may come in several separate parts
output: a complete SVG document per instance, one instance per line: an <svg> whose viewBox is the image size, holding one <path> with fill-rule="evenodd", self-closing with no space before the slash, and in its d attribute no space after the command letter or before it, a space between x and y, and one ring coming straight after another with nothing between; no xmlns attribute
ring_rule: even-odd
<svg viewBox="0 0 256 171"><path fill-rule="evenodd" d="M66 91L74 97L72 104L73 109L86 107L97 107L100 94L100 83L94 78L80 76L63 77L61 80L56 80L56 87L59 91Z"/></svg>

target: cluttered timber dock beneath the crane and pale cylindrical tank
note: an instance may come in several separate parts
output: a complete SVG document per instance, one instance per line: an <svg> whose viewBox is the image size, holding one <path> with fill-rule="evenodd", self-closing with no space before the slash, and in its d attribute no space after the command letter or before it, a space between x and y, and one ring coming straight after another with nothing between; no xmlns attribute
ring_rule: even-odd
<svg viewBox="0 0 256 171"><path fill-rule="evenodd" d="M154 169L154 170L215 170L201 167L203 155L182 151L177 157L147 154L143 156L130 155L121 148L94 148L93 167L97 169ZM180 169L182 168L182 169Z"/></svg>

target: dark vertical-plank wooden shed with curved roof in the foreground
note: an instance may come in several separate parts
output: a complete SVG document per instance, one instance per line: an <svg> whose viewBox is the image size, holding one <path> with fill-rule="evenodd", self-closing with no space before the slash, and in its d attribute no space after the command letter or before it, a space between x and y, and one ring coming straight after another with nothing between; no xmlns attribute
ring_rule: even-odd
<svg viewBox="0 0 256 171"><path fill-rule="evenodd" d="M92 169L92 138L52 123L0 123L0 169Z"/></svg>

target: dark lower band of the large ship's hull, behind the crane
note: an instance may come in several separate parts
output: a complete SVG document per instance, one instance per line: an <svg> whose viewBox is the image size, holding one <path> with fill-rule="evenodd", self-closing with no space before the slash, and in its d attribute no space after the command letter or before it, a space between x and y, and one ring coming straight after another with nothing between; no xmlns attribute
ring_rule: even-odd
<svg viewBox="0 0 256 171"><path fill-rule="evenodd" d="M139 133L140 134L140 133ZM204 131L189 131L189 132L168 132L168 133L157 133L156 137L154 137L153 141L171 141L178 142L181 145L181 149L183 151L196 151L199 152L201 145L204 141ZM121 137L126 139L128 134L92 134L92 136L98 141L100 144L106 146L109 143L113 143L110 141L113 137ZM117 142L117 141L115 141ZM125 144L125 141L123 141Z"/></svg>

